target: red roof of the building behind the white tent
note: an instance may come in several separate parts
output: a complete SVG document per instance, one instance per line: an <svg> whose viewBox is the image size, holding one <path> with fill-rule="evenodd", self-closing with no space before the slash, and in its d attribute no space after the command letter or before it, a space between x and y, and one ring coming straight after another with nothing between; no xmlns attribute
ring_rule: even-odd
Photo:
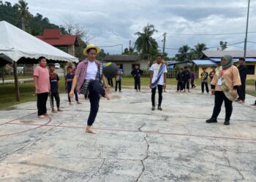
<svg viewBox="0 0 256 182"><path fill-rule="evenodd" d="M61 29L45 29L43 36L36 36L52 46L79 46L78 36L61 35Z"/></svg>

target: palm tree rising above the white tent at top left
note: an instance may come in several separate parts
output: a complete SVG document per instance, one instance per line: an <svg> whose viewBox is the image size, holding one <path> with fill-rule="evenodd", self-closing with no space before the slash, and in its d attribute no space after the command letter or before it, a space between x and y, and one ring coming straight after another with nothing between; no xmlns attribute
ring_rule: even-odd
<svg viewBox="0 0 256 182"><path fill-rule="evenodd" d="M26 23L29 23L29 19L31 18L28 3L24 0L19 0L17 5L19 10L18 22L21 22L22 29L25 31Z"/></svg>

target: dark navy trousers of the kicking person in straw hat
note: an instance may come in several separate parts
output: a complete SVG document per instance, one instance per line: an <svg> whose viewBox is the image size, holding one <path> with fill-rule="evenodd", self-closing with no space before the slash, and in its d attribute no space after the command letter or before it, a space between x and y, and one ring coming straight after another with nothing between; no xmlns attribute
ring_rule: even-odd
<svg viewBox="0 0 256 182"><path fill-rule="evenodd" d="M102 87L102 84L98 80L93 80L89 83L89 100L91 103L91 111L89 114L89 118L87 120L87 125L91 126L94 124L94 120L99 111L99 98L100 95L105 97L105 90Z"/></svg>

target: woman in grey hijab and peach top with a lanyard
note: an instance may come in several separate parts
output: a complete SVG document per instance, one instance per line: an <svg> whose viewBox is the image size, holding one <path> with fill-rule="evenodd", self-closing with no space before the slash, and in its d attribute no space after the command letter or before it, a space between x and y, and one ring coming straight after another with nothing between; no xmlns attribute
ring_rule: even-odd
<svg viewBox="0 0 256 182"><path fill-rule="evenodd" d="M215 95L214 111L211 119L206 120L206 122L217 122L217 117L219 116L224 101L226 109L224 124L229 125L230 116L233 111L232 103L233 100L236 100L237 89L241 85L239 71L236 66L233 66L232 56L225 55L222 58L222 66L217 68L211 84L213 85Z"/></svg>

